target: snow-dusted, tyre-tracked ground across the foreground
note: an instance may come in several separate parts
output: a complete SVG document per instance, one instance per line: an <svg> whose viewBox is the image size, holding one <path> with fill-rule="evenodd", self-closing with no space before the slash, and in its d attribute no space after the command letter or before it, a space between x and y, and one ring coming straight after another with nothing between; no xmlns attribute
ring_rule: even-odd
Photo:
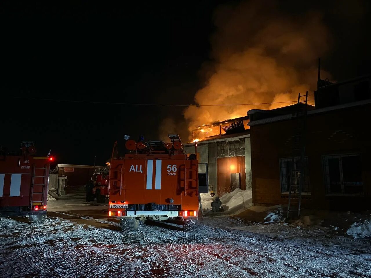
<svg viewBox="0 0 371 278"><path fill-rule="evenodd" d="M370 242L321 231L224 217L204 219L197 233L145 224L124 234L115 222L64 215L88 224L0 219L0 276L371 277Z"/></svg>

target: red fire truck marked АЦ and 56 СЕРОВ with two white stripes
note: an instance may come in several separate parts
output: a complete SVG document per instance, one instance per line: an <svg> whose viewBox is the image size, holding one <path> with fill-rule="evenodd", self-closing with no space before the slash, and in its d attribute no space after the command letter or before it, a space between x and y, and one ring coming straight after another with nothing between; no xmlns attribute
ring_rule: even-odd
<svg viewBox="0 0 371 278"><path fill-rule="evenodd" d="M128 153L111 160L108 216L120 219L124 232L136 231L146 218L177 220L184 231L197 228L199 194L209 191L207 163L188 156L178 135L168 136L165 143L125 135Z"/></svg>

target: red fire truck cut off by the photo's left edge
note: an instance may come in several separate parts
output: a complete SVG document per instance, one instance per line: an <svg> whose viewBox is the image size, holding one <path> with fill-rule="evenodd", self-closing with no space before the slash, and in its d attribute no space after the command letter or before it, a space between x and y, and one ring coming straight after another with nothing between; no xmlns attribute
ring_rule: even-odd
<svg viewBox="0 0 371 278"><path fill-rule="evenodd" d="M43 219L52 160L36 156L33 142L22 142L20 152L0 150L0 216Z"/></svg>

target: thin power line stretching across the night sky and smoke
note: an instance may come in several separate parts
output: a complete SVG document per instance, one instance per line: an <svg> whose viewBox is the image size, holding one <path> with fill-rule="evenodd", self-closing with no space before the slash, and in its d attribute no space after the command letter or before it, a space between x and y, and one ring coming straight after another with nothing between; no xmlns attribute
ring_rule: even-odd
<svg viewBox="0 0 371 278"><path fill-rule="evenodd" d="M191 104L158 104L158 103L122 103L122 102L99 102L99 101L85 101L85 100L69 100L69 99L42 99L36 97L16 97L10 96L14 99L34 99L34 100L46 100L56 102L76 102L76 103L95 103L95 104L117 104L117 105L143 105L143 106L190 106ZM308 99L314 100L314 99ZM282 102L262 102L262 103L237 103L237 104L200 104L196 106L236 106L236 105L262 105L262 104L275 104L275 103L292 103L292 101Z"/></svg>

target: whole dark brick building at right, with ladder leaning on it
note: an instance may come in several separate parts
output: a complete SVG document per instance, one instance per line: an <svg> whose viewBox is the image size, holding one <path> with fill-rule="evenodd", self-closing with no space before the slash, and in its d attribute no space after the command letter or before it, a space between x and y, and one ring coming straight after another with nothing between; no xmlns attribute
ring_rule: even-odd
<svg viewBox="0 0 371 278"><path fill-rule="evenodd" d="M315 92L306 117L304 208L371 209L370 98L370 76ZM297 105L247 112L255 205L288 203Z"/></svg>

